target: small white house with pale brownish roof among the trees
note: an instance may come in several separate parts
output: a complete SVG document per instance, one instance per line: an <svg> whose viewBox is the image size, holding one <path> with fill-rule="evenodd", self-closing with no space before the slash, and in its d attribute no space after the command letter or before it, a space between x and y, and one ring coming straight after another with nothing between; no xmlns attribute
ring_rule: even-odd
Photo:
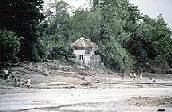
<svg viewBox="0 0 172 112"><path fill-rule="evenodd" d="M81 66L99 66L101 64L100 55L95 54L98 46L89 39L81 37L72 43L72 48L76 56L75 62Z"/></svg>

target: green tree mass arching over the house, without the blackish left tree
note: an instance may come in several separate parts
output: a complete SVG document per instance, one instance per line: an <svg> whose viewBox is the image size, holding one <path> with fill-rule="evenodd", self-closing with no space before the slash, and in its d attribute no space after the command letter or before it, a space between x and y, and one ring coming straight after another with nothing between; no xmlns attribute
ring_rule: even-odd
<svg viewBox="0 0 172 112"><path fill-rule="evenodd" d="M128 0L91 3L91 9L79 8L72 14L67 3L54 5L56 14L48 16L44 33L48 49L60 46L56 48L59 55L83 36L99 46L97 53L105 65L117 71L155 71L171 65L171 30L161 15L156 19L144 16Z"/></svg>

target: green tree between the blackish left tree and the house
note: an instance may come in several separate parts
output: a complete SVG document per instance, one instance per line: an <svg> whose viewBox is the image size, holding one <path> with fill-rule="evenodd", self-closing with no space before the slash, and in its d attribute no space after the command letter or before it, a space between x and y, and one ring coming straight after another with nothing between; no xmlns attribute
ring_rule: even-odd
<svg viewBox="0 0 172 112"><path fill-rule="evenodd" d="M54 16L51 21L45 21L42 27L45 29L44 42L48 50L48 59L65 59L73 57L71 49L71 17L68 13L69 4L64 1L52 4L51 8L55 8Z"/></svg>

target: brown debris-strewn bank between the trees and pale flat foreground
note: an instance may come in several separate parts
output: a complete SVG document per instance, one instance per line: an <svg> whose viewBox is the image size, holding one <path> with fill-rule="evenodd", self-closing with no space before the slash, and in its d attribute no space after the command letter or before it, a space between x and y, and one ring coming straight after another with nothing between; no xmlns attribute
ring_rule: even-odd
<svg viewBox="0 0 172 112"><path fill-rule="evenodd" d="M32 88L158 88L171 87L171 74L144 73L142 79L132 79L128 73L121 77L120 73L114 73L105 67L83 68L77 65L69 65L60 61L48 61L43 63L21 63L20 66L10 69L9 78L1 80L0 88L16 86L14 80L20 80L19 87L26 87L27 79L32 81ZM150 79L151 77L151 79ZM166 78L165 78L166 77Z"/></svg>

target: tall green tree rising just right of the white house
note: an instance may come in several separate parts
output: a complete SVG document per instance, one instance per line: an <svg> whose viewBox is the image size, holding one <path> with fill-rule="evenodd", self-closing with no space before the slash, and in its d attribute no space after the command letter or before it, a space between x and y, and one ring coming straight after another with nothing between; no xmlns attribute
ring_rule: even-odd
<svg viewBox="0 0 172 112"><path fill-rule="evenodd" d="M132 70L134 60L124 48L129 40L130 31L126 30L130 21L129 6L127 0L93 0L93 11L99 10L101 22L99 25L98 45L99 54L105 64L115 70Z"/></svg>

